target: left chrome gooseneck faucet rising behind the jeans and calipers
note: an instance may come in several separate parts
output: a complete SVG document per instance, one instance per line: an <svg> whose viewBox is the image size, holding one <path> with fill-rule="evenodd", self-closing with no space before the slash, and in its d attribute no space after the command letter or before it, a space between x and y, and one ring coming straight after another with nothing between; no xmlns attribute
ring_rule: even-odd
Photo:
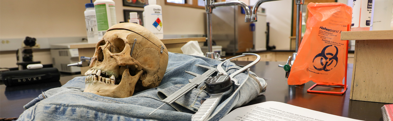
<svg viewBox="0 0 393 121"><path fill-rule="evenodd" d="M250 8L248 8L248 6L242 2L242 1L238 1L238 0L234 0L234 1L226 1L226 2L214 2L213 0L205 0L205 9L206 9L206 15L207 15L207 19L208 19L208 52L206 52L206 57L211 58L211 59L217 59L217 60L224 60L220 58L219 54L215 54L212 49L212 40L211 40L211 36L212 36L212 26L211 26L211 13L213 12L213 8L215 7L224 7L224 6L235 6L235 5L239 5L242 6L244 9L244 12L246 13L246 18L244 18L245 22L251 22L251 12L250 12Z"/></svg>

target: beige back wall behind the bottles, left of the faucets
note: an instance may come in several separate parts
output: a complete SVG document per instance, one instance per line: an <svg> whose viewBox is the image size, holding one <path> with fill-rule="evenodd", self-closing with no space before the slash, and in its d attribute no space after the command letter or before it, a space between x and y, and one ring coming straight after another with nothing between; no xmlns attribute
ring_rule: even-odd
<svg viewBox="0 0 393 121"><path fill-rule="evenodd" d="M86 37L83 12L88 2L90 0L1 0L0 38ZM124 21L123 9L143 10L143 7L123 6L122 0L114 2L118 22ZM157 4L162 6L165 35L205 33L204 9L169 6L164 0L157 0ZM0 67L17 67L15 53L1 51ZM33 56L35 61L51 64L49 49L35 50Z"/></svg>

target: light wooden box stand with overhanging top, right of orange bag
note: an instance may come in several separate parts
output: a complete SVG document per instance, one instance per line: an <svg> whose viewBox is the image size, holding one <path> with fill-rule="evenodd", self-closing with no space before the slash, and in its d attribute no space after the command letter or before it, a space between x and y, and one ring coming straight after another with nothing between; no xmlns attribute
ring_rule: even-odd
<svg viewBox="0 0 393 121"><path fill-rule="evenodd" d="M393 30L343 31L356 40L350 99L393 103Z"/></svg>

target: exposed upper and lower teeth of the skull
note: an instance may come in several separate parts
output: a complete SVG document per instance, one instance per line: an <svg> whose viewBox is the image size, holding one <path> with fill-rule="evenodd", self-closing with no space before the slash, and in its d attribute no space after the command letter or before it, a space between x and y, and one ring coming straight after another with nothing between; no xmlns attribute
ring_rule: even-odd
<svg viewBox="0 0 393 121"><path fill-rule="evenodd" d="M115 75L111 75L109 78L105 78L101 76L101 70L99 69L92 69L92 70L88 70L86 73L84 73L84 75L86 76L85 82L88 81L94 81L94 82L102 82L102 83L106 83L106 84L115 84L115 80L116 77ZM105 73L105 72L102 72ZM91 74L91 75L90 75Z"/></svg>

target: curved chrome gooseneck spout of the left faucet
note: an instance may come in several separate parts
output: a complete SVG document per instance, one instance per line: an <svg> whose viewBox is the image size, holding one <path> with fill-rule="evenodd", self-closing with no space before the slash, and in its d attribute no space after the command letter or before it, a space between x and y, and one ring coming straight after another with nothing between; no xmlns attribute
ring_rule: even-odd
<svg viewBox="0 0 393 121"><path fill-rule="evenodd" d="M235 5L239 5L243 7L244 12L246 13L246 18L244 18L244 22L251 22L250 8L248 8L247 4L242 1L233 0L233 1L226 1L226 2L213 2L210 4L210 7L213 9L215 7L235 6Z"/></svg>

